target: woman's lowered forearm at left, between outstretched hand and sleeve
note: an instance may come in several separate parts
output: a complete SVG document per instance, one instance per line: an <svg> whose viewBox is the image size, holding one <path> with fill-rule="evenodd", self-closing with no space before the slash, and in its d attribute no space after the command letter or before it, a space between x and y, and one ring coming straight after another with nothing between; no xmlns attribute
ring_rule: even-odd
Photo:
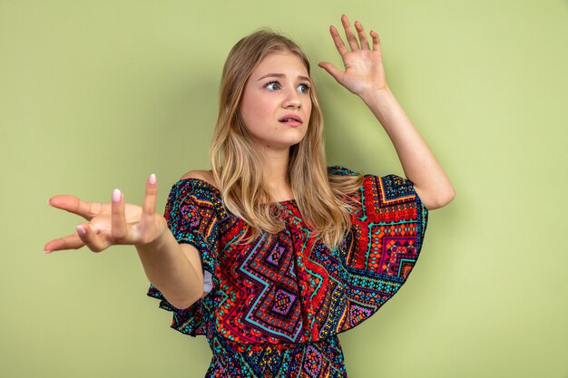
<svg viewBox="0 0 568 378"><path fill-rule="evenodd" d="M136 250L146 276L171 305L183 309L201 297L203 293L201 270L191 264L190 258L186 256L169 230L150 244L137 245ZM199 257L197 250L195 255Z"/></svg>

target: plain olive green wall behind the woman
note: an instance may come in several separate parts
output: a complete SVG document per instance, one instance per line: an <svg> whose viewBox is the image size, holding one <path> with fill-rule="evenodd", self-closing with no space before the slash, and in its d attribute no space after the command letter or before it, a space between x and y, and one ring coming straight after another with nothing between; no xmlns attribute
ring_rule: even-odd
<svg viewBox="0 0 568 378"><path fill-rule="evenodd" d="M341 334L350 377L568 376L566 1L0 0L0 376L202 377L204 337L169 328L132 247L44 255L79 218L54 194L160 208L209 169L220 71L260 26L301 44L329 164L404 175L387 134L316 63L347 13L457 192L409 281Z"/></svg>

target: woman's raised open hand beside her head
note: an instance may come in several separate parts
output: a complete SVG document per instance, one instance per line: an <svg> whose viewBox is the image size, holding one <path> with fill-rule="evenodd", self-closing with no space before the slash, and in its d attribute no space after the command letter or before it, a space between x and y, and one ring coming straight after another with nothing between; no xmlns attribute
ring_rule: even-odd
<svg viewBox="0 0 568 378"><path fill-rule="evenodd" d="M351 29L347 15L341 16L341 24L343 24L351 51L343 44L343 40L335 26L329 27L329 33L331 33L331 37L338 48L338 53L341 55L345 65L345 72L340 71L333 63L322 62L318 65L350 92L360 97L387 89L387 79L383 68L383 58L377 32L371 30L369 33L373 41L371 50L367 42L367 34L365 34L361 23L355 22L358 38Z"/></svg>

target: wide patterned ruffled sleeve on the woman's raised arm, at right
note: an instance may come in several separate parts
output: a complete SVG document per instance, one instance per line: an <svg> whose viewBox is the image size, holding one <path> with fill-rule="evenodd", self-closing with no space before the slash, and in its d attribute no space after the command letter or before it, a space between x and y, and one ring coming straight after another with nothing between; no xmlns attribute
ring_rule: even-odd
<svg viewBox="0 0 568 378"><path fill-rule="evenodd" d="M342 167L328 171L357 174ZM359 206L351 214L351 232L333 252L345 267L338 275L345 296L329 312L328 333L360 324L397 294L416 265L426 233L428 211L409 179L366 175L354 199Z"/></svg>

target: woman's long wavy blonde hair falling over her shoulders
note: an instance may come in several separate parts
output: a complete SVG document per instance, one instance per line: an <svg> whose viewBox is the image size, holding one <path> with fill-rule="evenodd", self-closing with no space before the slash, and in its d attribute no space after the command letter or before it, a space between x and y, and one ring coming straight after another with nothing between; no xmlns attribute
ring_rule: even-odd
<svg viewBox="0 0 568 378"><path fill-rule="evenodd" d="M309 62L298 44L268 30L260 30L233 46L220 82L220 106L211 143L211 168L225 207L249 225L246 242L262 232L276 233L284 222L275 217L263 182L263 160L240 115L240 101L250 74L270 53L298 55L309 73ZM323 144L323 117L315 88L306 136L290 147L287 179L304 222L313 237L331 250L338 247L350 228L348 194L356 191L362 175L329 175ZM244 233L241 238L244 237Z"/></svg>

